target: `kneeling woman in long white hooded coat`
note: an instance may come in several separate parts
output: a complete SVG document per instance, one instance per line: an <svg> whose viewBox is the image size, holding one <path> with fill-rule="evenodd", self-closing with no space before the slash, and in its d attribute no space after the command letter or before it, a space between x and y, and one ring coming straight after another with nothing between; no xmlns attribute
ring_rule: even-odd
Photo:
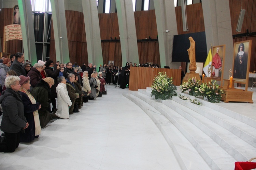
<svg viewBox="0 0 256 170"><path fill-rule="evenodd" d="M57 112L52 114L52 118L69 119L69 106L72 105L69 99L67 90L67 81L65 77L58 78L58 86L56 87L57 92Z"/></svg>

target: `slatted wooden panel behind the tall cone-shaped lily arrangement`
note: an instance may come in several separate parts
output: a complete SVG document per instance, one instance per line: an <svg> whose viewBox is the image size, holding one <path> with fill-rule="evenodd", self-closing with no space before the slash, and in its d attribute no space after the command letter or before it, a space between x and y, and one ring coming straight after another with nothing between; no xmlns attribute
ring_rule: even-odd
<svg viewBox="0 0 256 170"><path fill-rule="evenodd" d="M137 91L151 87L158 72L166 72L169 77L173 77L173 84L179 86L181 83L180 69L130 67L129 90Z"/></svg>

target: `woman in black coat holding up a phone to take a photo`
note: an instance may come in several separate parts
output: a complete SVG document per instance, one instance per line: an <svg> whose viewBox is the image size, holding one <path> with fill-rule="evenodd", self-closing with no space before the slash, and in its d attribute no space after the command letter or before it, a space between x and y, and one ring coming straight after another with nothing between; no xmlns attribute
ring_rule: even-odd
<svg viewBox="0 0 256 170"><path fill-rule="evenodd" d="M59 76L59 69L60 69L60 67L58 65L56 70L54 70L53 61L52 60L48 60L45 63L45 69L44 70L45 70L45 72L47 74L47 77L51 77L54 80L54 85L51 88L51 91L52 91L51 103L53 105L52 112L56 109L56 99L55 98L57 98L56 87L58 86L57 78ZM49 110L49 112L50 111L51 110Z"/></svg>

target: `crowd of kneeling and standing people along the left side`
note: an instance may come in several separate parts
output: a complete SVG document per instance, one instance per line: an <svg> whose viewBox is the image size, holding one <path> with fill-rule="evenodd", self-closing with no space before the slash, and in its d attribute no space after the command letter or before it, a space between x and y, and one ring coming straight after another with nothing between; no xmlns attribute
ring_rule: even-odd
<svg viewBox="0 0 256 170"><path fill-rule="evenodd" d="M80 67L76 62L54 64L52 60L39 60L32 66L24 61L23 53L1 60L0 152L14 152L19 142L38 138L52 119L69 119L69 115L80 112L88 100L106 95L106 84L125 89L133 66L128 62L124 67L110 63L100 65L97 71L92 63Z"/></svg>

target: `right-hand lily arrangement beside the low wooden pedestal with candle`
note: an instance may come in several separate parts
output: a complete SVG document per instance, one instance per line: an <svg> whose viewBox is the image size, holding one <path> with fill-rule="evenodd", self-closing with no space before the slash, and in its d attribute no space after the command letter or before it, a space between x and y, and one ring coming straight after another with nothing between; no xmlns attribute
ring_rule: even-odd
<svg viewBox="0 0 256 170"><path fill-rule="evenodd" d="M214 82L211 80L211 82L201 84L198 90L211 103L219 103L222 97L221 94L224 93L223 90L219 89L216 80Z"/></svg>

